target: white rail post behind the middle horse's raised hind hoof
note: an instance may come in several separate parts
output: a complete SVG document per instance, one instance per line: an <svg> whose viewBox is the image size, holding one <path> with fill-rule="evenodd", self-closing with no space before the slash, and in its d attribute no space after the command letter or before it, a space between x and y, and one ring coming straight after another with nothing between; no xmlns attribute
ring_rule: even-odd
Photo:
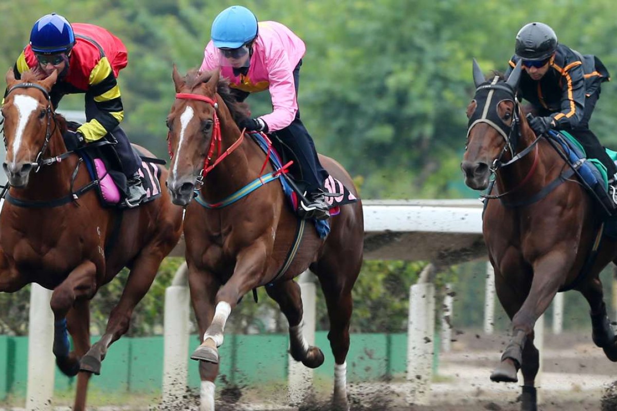
<svg viewBox="0 0 617 411"><path fill-rule="evenodd" d="M302 293L302 335L309 345L315 345L315 281L307 270L298 277ZM289 356L288 397L290 404L301 404L313 386L313 370Z"/></svg>

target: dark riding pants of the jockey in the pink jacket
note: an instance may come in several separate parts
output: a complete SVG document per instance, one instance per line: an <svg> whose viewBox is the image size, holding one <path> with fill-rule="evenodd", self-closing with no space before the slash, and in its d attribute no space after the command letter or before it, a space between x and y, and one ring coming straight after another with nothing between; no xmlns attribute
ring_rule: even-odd
<svg viewBox="0 0 617 411"><path fill-rule="evenodd" d="M296 99L298 96L298 89L300 86L300 66L302 60L294 68L294 85L296 86ZM249 93L238 91L233 89L233 93L236 95L236 99L244 101ZM328 178L328 171L326 171L317 157L317 150L315 150L315 143L311 138L309 131L300 120L300 110L296 113L296 118L286 128L277 130L275 132L283 144L288 147L294 155L294 165L291 167L292 174L299 181L299 185L304 190L311 193L317 189L323 187L323 183Z"/></svg>

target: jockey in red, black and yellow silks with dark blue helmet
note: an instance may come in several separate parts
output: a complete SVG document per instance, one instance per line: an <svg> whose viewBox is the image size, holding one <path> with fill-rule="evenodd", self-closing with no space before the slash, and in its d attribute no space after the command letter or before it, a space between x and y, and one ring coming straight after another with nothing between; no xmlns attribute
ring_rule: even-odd
<svg viewBox="0 0 617 411"><path fill-rule="evenodd" d="M24 71L49 76L58 71L58 80L49 92L54 109L65 94L84 93L87 122L64 136L68 150L84 147L112 134L115 150L126 176L126 205L136 206L146 195L138 174L141 159L118 124L124 113L118 71L126 67L126 47L102 27L75 23L52 13L39 18L30 33L30 44L15 63L15 78ZM6 96L6 94L5 94Z"/></svg>

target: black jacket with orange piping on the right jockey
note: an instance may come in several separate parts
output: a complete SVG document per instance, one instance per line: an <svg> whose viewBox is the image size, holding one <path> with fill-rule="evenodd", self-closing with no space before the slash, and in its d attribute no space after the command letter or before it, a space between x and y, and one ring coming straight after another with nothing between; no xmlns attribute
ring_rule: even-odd
<svg viewBox="0 0 617 411"><path fill-rule="evenodd" d="M519 58L510 60L506 78ZM594 55L581 55L563 44L557 46L549 71L538 81L521 72L518 96L536 108L538 115L552 116L556 128L576 128L583 116L585 97L598 92L608 70Z"/></svg>

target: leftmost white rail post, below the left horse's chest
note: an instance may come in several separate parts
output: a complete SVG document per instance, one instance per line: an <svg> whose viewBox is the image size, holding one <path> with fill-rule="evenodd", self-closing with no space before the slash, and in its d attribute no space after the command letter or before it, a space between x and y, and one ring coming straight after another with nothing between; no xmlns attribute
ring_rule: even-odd
<svg viewBox="0 0 617 411"><path fill-rule="evenodd" d="M28 324L28 388L26 410L51 411L54 407L54 313L49 305L51 290L33 283L30 286Z"/></svg>

